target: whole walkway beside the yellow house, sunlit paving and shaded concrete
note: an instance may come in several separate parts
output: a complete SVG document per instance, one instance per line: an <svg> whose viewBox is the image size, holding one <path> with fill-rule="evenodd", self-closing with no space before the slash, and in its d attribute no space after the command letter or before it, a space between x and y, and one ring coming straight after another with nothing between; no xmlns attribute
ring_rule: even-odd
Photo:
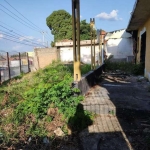
<svg viewBox="0 0 150 150"><path fill-rule="evenodd" d="M100 85L91 88L87 93L82 105L84 110L95 113L96 118L93 125L80 134L85 150L136 149L138 141L135 143L133 138L137 135L130 137L126 133L141 128L137 124L141 118L136 118L135 115L138 112L141 116L145 111L149 113L150 93L144 89L146 81L138 83L130 79L131 77L125 80L122 77L105 76ZM132 110L138 112L134 115Z"/></svg>

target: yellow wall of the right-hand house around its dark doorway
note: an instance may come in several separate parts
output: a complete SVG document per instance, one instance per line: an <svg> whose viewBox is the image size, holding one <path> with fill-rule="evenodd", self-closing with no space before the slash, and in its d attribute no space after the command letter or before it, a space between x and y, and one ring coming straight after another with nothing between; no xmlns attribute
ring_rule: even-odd
<svg viewBox="0 0 150 150"><path fill-rule="evenodd" d="M150 18L138 30L138 54L137 62L140 62L141 35L146 31L146 57L145 57L145 77L150 80Z"/></svg>

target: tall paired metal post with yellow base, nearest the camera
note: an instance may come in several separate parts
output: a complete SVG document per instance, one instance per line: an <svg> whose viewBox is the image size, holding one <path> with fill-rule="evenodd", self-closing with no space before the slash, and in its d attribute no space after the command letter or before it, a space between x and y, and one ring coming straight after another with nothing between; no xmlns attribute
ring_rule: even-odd
<svg viewBox="0 0 150 150"><path fill-rule="evenodd" d="M80 69L80 0L72 0L74 81L81 80Z"/></svg>

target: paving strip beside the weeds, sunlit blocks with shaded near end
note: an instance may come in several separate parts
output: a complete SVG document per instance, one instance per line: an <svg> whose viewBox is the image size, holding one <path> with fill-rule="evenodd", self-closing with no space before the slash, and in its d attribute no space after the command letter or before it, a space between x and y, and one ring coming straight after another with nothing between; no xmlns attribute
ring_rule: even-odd
<svg viewBox="0 0 150 150"><path fill-rule="evenodd" d="M81 133L85 150L132 150L116 117L116 107L109 92L101 86L93 87L82 102L84 110L96 115L93 125ZM84 135L88 135L85 137Z"/></svg>

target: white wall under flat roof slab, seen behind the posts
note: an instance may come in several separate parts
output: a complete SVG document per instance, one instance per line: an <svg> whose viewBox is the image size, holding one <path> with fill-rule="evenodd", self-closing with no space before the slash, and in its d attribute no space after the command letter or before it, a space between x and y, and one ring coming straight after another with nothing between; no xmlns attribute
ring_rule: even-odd
<svg viewBox="0 0 150 150"><path fill-rule="evenodd" d="M86 64L91 63L91 46L81 46L81 61ZM99 61L99 45L95 46L96 57L95 61ZM73 61L73 47L61 47L60 48L60 59L61 61L68 62Z"/></svg>

